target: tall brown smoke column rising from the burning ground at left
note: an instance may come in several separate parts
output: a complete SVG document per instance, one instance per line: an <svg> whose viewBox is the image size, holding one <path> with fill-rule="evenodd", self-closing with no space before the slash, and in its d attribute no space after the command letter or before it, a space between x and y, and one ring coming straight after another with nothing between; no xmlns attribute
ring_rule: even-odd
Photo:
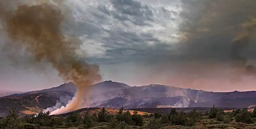
<svg viewBox="0 0 256 129"><path fill-rule="evenodd" d="M56 6L61 3L44 2L46 1L42 0L27 5L22 2L20 4L1 0L0 17L3 29L11 39L8 43L10 48L25 47L26 51L34 56L33 61L50 62L63 80L76 84L77 92L72 101L66 107L51 112L51 114L60 114L81 108L84 89L98 82L101 76L97 65L85 62L77 54L82 42L75 36L67 38L61 32L62 23L69 17L65 15L66 12L61 11L59 6ZM18 5L17 9L4 9L14 4ZM88 94L89 92L86 93Z"/></svg>

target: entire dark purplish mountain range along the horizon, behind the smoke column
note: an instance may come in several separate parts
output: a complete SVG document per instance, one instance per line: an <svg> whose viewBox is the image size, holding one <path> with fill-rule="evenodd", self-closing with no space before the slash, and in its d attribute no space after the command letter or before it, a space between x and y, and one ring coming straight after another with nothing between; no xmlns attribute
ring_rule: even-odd
<svg viewBox="0 0 256 129"><path fill-rule="evenodd" d="M166 85L129 86L105 81L85 87L90 91L90 107L126 109L164 107L228 107L253 108L256 91L208 92ZM43 109L54 110L68 103L76 92L72 82L50 89L12 94L0 97L0 116L12 107L21 114L32 114ZM86 98L84 98L86 100Z"/></svg>

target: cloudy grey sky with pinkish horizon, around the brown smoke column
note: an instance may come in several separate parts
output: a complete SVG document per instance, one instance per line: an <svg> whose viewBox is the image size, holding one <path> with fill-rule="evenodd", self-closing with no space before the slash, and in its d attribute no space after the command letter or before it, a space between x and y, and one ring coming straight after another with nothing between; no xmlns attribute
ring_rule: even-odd
<svg viewBox="0 0 256 129"><path fill-rule="evenodd" d="M66 0L63 4L59 6L70 9L74 18L63 24L63 32L80 37L85 60L99 64L103 80L131 86L256 90L255 74L244 74L232 62L233 39L244 34L244 23L256 18L255 0ZM256 31L250 32L248 46L239 52L247 64L256 63ZM31 55L23 49L4 51L8 38L3 30L0 38L0 90L39 90L64 82L48 63L31 64Z"/></svg>

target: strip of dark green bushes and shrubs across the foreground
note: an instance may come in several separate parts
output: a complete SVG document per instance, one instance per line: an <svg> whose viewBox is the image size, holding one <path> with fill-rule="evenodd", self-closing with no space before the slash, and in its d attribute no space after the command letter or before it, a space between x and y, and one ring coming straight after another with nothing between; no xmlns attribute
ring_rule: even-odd
<svg viewBox="0 0 256 129"><path fill-rule="evenodd" d="M253 112L238 109L232 112L218 110L201 113L177 112L174 108L169 114L139 115L130 114L121 107L111 114L105 108L98 112L73 113L67 117L49 116L49 112L20 117L13 108L5 118L0 118L1 129L256 129L256 108Z"/></svg>

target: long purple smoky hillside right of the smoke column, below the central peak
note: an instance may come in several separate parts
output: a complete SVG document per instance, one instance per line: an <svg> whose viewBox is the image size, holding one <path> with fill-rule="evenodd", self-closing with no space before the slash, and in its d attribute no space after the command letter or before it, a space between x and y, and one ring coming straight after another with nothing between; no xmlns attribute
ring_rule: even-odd
<svg viewBox="0 0 256 129"><path fill-rule="evenodd" d="M115 96L115 97L113 97ZM164 85L148 85L101 94L101 100L92 104L99 107L160 108L160 107L232 107L255 105L255 91L206 92ZM107 99L109 97L109 99Z"/></svg>

